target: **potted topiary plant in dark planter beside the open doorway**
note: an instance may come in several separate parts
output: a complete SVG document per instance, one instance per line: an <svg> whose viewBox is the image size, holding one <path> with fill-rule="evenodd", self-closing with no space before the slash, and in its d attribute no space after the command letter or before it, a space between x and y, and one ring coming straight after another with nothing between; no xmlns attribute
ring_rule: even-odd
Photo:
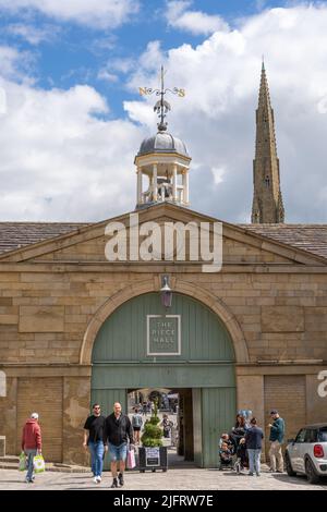
<svg viewBox="0 0 327 512"><path fill-rule="evenodd" d="M162 430L159 427L158 402L149 419L145 422L144 432L141 437L142 447L138 449L138 466L141 473L145 470L155 472L156 470L167 471L168 458L167 447L162 447Z"/></svg>

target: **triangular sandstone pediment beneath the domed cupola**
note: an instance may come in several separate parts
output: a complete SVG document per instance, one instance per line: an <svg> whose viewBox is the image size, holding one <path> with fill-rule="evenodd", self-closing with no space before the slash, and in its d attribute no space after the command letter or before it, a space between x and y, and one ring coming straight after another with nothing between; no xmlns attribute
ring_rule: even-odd
<svg viewBox="0 0 327 512"><path fill-rule="evenodd" d="M132 212L138 215L140 225L145 222L156 222L162 228L165 222L182 222L187 224L193 222L195 225L207 223L213 229L214 222L220 222L218 219L204 216L196 211L174 206L171 204L161 204ZM135 217L134 217L135 218ZM112 222L120 222L126 228L126 241L130 241L130 214L116 217L102 222L93 224L74 224L73 230L50 237L37 243L31 243L24 247L7 252L0 255L0 261L34 261L34 263L53 263L53 264L111 264L105 254L106 244L110 236L106 235L106 227ZM222 222L222 252L223 264L232 265L315 265L324 266L327 259L311 254L306 251L288 245L286 243L271 240L262 232L253 232L244 225L237 225ZM164 242L162 242L164 246ZM186 264L189 264L186 243ZM132 261L130 252L126 254L128 263ZM175 259L175 258L173 258ZM152 265L152 261L142 261L144 265ZM155 261L156 264L160 261ZM162 256L162 263L164 256ZM194 264L194 261L190 261Z"/></svg>

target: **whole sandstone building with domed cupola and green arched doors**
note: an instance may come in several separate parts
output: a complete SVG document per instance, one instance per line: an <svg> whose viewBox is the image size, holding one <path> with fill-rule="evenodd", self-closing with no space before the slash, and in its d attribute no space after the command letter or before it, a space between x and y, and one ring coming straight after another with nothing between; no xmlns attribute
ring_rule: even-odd
<svg viewBox="0 0 327 512"><path fill-rule="evenodd" d="M110 412L128 391L158 386L180 390L183 452L202 466L215 465L221 429L233 426L238 410L252 410L265 426L278 409L287 437L327 422L327 398L318 392L327 370L327 225L284 224L282 215L268 214L252 224L221 223L186 208L191 157L167 133L164 102L157 109L158 134L142 143L135 159L134 215L140 225L205 223L213 231L219 222L221 270L204 272L190 247L183 260L175 252L108 260L108 223L125 227L131 242L129 214L88 224L0 223L7 453L20 452L23 424L37 411L46 459L86 464L82 434L93 400ZM281 211L276 158L269 180L278 194L267 199L275 214ZM259 188L255 194L266 197ZM158 302L164 277L173 315ZM180 351L153 357L147 326L158 317L178 321Z"/></svg>

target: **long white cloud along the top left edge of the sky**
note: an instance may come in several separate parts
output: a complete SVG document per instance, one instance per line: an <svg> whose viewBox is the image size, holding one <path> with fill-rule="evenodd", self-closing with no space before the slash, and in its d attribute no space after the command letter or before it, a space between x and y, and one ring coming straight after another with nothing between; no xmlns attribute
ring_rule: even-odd
<svg viewBox="0 0 327 512"><path fill-rule="evenodd" d="M99 28L117 27L140 9L138 0L0 0L11 12L38 11L60 21Z"/></svg>

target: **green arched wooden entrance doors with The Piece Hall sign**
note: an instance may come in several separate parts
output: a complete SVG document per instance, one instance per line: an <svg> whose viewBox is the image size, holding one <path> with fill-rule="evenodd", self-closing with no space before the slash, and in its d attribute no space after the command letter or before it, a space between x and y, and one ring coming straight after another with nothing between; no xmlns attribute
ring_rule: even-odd
<svg viewBox="0 0 327 512"><path fill-rule="evenodd" d="M184 420L198 466L217 465L219 435L235 414L234 350L225 325L207 306L174 293L166 309L158 293L119 306L100 327L92 352L92 402L105 413L126 406L128 390L182 389Z"/></svg>

